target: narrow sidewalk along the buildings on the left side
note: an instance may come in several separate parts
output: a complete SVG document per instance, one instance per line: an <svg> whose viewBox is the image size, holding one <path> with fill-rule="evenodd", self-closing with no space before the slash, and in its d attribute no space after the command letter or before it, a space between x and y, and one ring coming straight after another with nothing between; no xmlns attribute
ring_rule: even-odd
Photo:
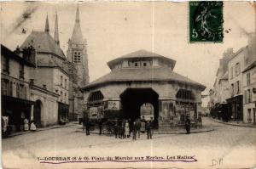
<svg viewBox="0 0 256 169"><path fill-rule="evenodd" d="M42 128L37 128L37 131L35 132L40 132L40 131L45 131L45 130L50 130L50 129L55 129L55 128L61 128L61 127L71 127L71 126L75 126L79 124L79 121L71 121L68 122L66 125L53 125L53 126L49 126L49 127L42 127ZM10 137L14 137L14 136L19 136L19 135L23 135L23 134L27 134L27 133L31 133L32 131L24 131L24 132L14 132L9 134L6 138L10 138Z"/></svg>

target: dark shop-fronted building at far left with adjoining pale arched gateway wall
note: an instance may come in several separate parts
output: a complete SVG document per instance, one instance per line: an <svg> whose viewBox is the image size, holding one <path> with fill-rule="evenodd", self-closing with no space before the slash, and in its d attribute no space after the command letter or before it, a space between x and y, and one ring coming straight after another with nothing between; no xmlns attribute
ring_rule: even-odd
<svg viewBox="0 0 256 169"><path fill-rule="evenodd" d="M12 131L22 130L25 119L34 121L37 127L55 124L57 120L58 94L50 92L46 87L39 87L31 78L36 66L30 62L34 56L15 54L1 45L1 84L2 84L2 116L9 119Z"/></svg>

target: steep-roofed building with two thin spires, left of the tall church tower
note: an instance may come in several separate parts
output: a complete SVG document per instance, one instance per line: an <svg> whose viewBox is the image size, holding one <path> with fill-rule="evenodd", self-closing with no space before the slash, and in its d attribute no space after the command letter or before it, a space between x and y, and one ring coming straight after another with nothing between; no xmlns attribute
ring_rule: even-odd
<svg viewBox="0 0 256 169"><path fill-rule="evenodd" d="M26 55L26 53L34 54L33 62L35 63L36 68L31 70L30 78L32 79L32 83L38 87L48 90L52 93L51 95L53 97L57 96L55 102L57 105L53 105L51 103L54 100L53 98L50 99L51 101L49 100L47 102L45 99L39 99L41 110L49 111L46 113L48 116L41 116L42 127L55 124L58 121L68 120L69 71L67 65L64 64L67 59L59 46L60 43L57 31L57 15L54 37L51 37L49 34L49 20L47 16L44 31L32 31L32 33L26 37L26 40L21 44L20 48L16 48L15 50L15 53L20 54L20 57L24 57L23 55ZM33 48L34 52L29 50L29 48ZM42 97L42 93L37 97ZM37 97L34 93L34 98ZM50 105L52 106L49 107L49 110L42 108ZM52 108L56 109L53 110ZM52 115L49 115L50 113L52 113Z"/></svg>

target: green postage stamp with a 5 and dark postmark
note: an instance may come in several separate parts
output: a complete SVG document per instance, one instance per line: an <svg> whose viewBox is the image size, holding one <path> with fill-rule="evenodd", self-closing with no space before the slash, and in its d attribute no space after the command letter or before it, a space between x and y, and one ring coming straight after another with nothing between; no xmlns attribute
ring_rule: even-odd
<svg viewBox="0 0 256 169"><path fill-rule="evenodd" d="M189 42L223 42L223 2L189 2Z"/></svg>

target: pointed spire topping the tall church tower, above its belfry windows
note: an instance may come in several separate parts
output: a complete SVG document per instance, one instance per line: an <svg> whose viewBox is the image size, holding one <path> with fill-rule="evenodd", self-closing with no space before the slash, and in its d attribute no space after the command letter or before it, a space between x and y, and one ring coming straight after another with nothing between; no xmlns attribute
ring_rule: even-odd
<svg viewBox="0 0 256 169"><path fill-rule="evenodd" d="M76 44L84 44L83 34L82 34L82 31L81 31L80 19L79 19L79 5L77 7L75 25L73 27L73 33L72 33L72 36L71 36L71 41L73 43L76 43Z"/></svg>

